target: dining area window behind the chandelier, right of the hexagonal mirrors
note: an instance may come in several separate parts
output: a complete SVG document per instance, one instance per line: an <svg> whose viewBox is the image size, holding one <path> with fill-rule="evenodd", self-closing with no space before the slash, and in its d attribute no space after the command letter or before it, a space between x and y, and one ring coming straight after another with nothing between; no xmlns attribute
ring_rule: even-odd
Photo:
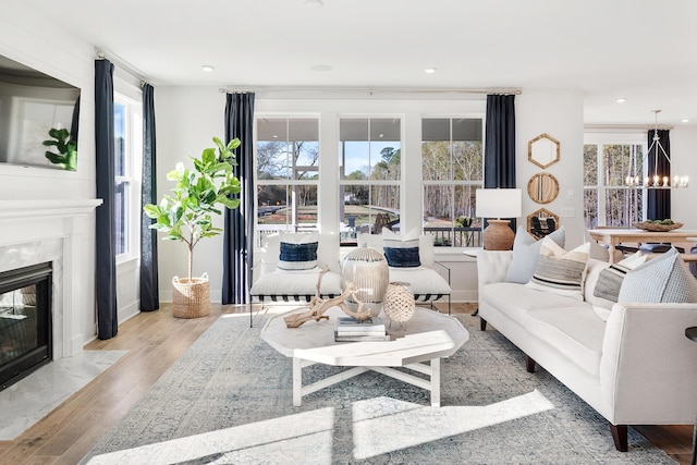
<svg viewBox="0 0 697 465"><path fill-rule="evenodd" d="M644 179L645 150L646 144L639 142L601 140L584 145L586 228L631 227L634 221L643 221L646 191L629 186L626 180L636 176Z"/></svg>

